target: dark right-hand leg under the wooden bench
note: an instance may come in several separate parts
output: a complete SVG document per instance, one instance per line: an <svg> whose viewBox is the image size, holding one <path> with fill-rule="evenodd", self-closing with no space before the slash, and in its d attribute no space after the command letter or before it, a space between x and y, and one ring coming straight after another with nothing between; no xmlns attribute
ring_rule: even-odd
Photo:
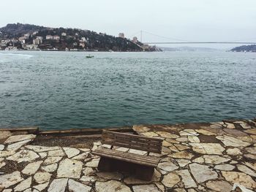
<svg viewBox="0 0 256 192"><path fill-rule="evenodd" d="M143 166L138 165L135 169L135 176L140 180L151 181L152 176L154 174L154 167L153 166Z"/></svg>

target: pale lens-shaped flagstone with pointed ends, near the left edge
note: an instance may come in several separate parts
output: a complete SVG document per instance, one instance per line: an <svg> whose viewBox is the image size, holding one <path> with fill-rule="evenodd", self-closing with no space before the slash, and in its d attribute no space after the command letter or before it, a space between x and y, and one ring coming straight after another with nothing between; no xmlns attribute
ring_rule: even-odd
<svg viewBox="0 0 256 192"><path fill-rule="evenodd" d="M34 153L32 150L20 150L18 153L15 153L7 158L7 160L25 162L25 161L33 161L36 158L39 158L37 153Z"/></svg>

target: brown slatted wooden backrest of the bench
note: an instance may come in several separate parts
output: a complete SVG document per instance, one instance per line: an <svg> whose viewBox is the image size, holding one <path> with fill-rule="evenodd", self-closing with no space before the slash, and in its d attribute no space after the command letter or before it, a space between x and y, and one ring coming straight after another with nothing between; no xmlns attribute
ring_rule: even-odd
<svg viewBox="0 0 256 192"><path fill-rule="evenodd" d="M162 152L162 139L143 137L135 134L123 134L114 131L102 131L102 143L111 146L127 147L152 153Z"/></svg>

